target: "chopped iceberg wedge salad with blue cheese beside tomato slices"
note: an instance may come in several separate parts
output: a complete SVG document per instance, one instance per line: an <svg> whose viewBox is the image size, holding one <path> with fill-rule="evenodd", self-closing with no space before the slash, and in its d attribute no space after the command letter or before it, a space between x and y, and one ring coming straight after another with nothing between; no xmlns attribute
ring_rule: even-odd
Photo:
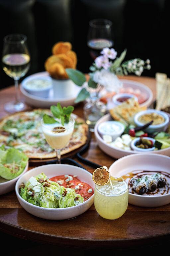
<svg viewBox="0 0 170 256"><path fill-rule="evenodd" d="M78 194L80 189L76 192L76 188L72 188L73 186L70 184L70 181L73 180L73 176L64 175L64 177L64 182L67 183L65 187L59 185L61 182L48 179L44 173L35 177L32 176L26 184L20 184L20 196L27 202L44 208L67 208L76 206L87 200L81 194ZM54 178L56 179L56 177ZM90 191L88 190L88 192L90 196L93 194L92 189Z"/></svg>

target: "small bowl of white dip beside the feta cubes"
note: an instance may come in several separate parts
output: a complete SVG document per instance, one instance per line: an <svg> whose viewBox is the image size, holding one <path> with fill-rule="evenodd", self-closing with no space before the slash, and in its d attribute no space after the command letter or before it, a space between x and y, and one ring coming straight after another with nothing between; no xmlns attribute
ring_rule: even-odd
<svg viewBox="0 0 170 256"><path fill-rule="evenodd" d="M124 132L125 126L117 121L105 121L98 125L98 132L101 135L112 136L113 141Z"/></svg>

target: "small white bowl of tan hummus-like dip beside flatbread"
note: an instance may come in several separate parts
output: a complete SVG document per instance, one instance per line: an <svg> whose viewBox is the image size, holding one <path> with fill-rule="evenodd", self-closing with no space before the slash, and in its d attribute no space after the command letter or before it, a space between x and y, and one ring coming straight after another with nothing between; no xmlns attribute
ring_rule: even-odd
<svg viewBox="0 0 170 256"><path fill-rule="evenodd" d="M149 133L166 131L169 123L169 116L163 111L147 109L134 116L134 122L137 126L143 126L152 120L153 123L149 125L145 131Z"/></svg>

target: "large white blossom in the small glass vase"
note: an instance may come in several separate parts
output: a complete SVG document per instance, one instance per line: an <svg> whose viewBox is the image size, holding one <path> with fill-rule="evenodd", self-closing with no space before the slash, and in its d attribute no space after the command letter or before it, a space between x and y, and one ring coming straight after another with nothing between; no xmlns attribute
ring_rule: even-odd
<svg viewBox="0 0 170 256"><path fill-rule="evenodd" d="M96 71L93 74L93 81L103 85L107 91L118 92L120 88L123 87L123 83L118 79L118 77L114 73L105 69Z"/></svg>

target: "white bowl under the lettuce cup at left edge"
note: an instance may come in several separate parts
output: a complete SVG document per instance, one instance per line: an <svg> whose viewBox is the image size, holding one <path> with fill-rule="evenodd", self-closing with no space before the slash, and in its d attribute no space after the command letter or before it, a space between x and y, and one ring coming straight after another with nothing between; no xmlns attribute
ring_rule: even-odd
<svg viewBox="0 0 170 256"><path fill-rule="evenodd" d="M28 170L28 162L27 165L24 169L24 171L17 176L15 179L12 180L8 180L5 182L0 183L0 195L6 194L8 192L11 192L14 188L15 188L15 183L17 182L17 180Z"/></svg>

